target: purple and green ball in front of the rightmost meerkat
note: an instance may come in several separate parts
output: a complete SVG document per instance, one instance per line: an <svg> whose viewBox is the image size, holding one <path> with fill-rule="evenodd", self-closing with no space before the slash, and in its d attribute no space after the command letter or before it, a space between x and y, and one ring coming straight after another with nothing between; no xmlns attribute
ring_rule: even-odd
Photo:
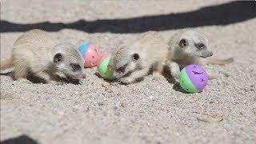
<svg viewBox="0 0 256 144"><path fill-rule="evenodd" d="M201 92L207 85L208 75L202 66L189 65L179 74L179 83L188 93Z"/></svg>

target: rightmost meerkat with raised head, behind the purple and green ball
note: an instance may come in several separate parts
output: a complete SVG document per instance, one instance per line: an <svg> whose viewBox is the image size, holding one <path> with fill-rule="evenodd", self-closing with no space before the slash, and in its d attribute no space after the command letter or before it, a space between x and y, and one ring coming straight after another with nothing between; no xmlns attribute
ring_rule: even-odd
<svg viewBox="0 0 256 144"><path fill-rule="evenodd" d="M224 60L210 58L213 52L209 50L208 39L194 30L179 30L170 38L168 45L170 50L167 65L169 65L170 73L174 78L178 78L180 68L182 69L190 64L201 66L208 64L225 65L234 61L233 58Z"/></svg>

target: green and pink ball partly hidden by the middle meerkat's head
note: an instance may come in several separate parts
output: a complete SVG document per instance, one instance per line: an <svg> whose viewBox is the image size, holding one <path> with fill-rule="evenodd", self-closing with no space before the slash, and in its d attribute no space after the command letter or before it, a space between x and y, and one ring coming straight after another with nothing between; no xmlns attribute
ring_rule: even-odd
<svg viewBox="0 0 256 144"><path fill-rule="evenodd" d="M98 74L107 80L113 80L113 73L110 70L110 58L111 58L111 54L103 54L102 58L98 64Z"/></svg>

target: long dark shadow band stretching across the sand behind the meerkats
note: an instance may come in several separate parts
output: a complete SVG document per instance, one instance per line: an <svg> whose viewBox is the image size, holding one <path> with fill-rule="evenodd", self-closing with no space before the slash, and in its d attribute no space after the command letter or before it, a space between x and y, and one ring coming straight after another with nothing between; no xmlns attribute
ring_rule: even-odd
<svg viewBox="0 0 256 144"><path fill-rule="evenodd" d="M79 20L71 23L38 22L20 24L1 20L0 33L23 32L32 29L58 31L62 29L82 30L87 33L142 33L148 30L173 30L186 27L228 25L243 22L256 16L256 2L228 2L217 6L178 13L143 16L124 19Z"/></svg>

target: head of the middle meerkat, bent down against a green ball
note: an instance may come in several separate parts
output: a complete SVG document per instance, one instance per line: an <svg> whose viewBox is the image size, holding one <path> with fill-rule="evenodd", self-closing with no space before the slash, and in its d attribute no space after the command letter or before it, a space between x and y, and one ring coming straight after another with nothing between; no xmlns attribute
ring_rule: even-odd
<svg viewBox="0 0 256 144"><path fill-rule="evenodd" d="M118 50L112 55L110 67L114 78L122 78L136 69L140 58L139 54L133 52L128 46L118 46Z"/></svg>

